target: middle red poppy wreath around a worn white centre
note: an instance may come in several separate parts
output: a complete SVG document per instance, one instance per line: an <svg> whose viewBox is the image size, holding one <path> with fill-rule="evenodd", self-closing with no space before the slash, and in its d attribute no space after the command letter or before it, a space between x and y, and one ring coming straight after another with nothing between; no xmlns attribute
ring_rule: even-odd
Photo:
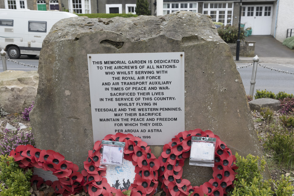
<svg viewBox="0 0 294 196"><path fill-rule="evenodd" d="M135 165L135 180L128 190L131 190L131 196L153 195L158 185L159 161L151 153L150 147L140 138L132 134L116 133L115 135L106 135L104 140L125 142L124 159L132 161ZM84 176L84 190L90 196L124 196L126 190L111 187L107 179L106 168L100 167L101 159L101 141L94 144L93 150L88 151L88 158L84 162L84 168L81 173Z"/></svg>

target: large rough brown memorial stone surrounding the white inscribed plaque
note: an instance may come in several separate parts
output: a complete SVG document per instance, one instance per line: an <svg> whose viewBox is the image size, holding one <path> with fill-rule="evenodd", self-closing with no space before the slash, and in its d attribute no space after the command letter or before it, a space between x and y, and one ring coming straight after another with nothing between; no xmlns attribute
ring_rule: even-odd
<svg viewBox="0 0 294 196"><path fill-rule="evenodd" d="M188 11L57 22L43 42L39 88L30 114L37 147L56 150L83 169L88 150L93 149L96 120L91 118L87 54L183 51L185 130L212 130L233 153L261 156L230 47L218 36L210 16ZM162 146L152 150L159 156ZM186 165L183 178L193 186L212 178L211 168Z"/></svg>

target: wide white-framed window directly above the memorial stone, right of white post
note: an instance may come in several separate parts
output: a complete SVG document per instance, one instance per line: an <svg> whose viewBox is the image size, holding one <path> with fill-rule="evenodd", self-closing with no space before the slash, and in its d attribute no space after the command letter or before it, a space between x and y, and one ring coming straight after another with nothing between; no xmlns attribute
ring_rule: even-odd
<svg viewBox="0 0 294 196"><path fill-rule="evenodd" d="M172 2L163 3L163 14L170 14L174 11L198 11L198 3L196 2Z"/></svg>

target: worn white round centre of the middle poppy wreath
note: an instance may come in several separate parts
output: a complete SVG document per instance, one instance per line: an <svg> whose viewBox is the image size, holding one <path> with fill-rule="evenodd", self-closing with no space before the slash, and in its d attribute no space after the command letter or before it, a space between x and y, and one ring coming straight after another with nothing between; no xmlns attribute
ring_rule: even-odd
<svg viewBox="0 0 294 196"><path fill-rule="evenodd" d="M110 186L116 189L128 190L129 186L135 180L135 175L135 166L133 163L123 159L122 166L107 165L105 177Z"/></svg>

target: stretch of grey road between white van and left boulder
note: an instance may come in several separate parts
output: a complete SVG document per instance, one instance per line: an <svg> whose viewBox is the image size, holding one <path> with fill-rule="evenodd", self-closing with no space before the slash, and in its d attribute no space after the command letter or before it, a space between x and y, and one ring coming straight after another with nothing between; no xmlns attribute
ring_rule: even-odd
<svg viewBox="0 0 294 196"><path fill-rule="evenodd" d="M8 57L6 57L8 58ZM38 67L39 65L39 57L36 58L28 58L27 56L21 56L19 59L11 59L20 63L24 63L27 65L32 65ZM11 61L6 60L7 70L16 70L16 71L32 71L32 70L38 70L38 68L19 65L18 63L14 63ZM3 64L2 60L0 61L0 72L3 72Z"/></svg>

